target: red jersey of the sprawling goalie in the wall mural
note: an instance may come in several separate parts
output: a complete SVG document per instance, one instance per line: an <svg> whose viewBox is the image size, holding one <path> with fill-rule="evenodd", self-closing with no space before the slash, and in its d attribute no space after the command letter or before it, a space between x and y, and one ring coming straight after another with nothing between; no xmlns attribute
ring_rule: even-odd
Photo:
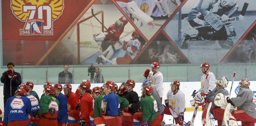
<svg viewBox="0 0 256 126"><path fill-rule="evenodd" d="M119 31L115 27L115 24L110 25L108 28L108 30L111 34L107 30L104 31L105 36L106 36L105 40L108 42L113 42L113 44L116 44L116 42L119 40L119 37L124 32L124 26L128 23L128 20L124 16L122 16L118 20L122 22L122 26Z"/></svg>

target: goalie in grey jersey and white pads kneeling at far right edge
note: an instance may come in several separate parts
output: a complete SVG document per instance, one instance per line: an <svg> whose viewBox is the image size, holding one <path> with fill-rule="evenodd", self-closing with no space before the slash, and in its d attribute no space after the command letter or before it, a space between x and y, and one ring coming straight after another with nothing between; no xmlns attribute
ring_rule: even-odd
<svg viewBox="0 0 256 126"><path fill-rule="evenodd" d="M227 117L227 121L230 126L238 126L237 121L242 122L242 126L254 126L256 123L256 104L253 102L254 93L249 88L250 81L247 78L243 78L239 81L239 92L237 97L229 99L229 96L223 94L217 94L214 103L217 106L226 108L228 103L237 107L237 110L224 113L224 117ZM227 122L226 122L227 123Z"/></svg>

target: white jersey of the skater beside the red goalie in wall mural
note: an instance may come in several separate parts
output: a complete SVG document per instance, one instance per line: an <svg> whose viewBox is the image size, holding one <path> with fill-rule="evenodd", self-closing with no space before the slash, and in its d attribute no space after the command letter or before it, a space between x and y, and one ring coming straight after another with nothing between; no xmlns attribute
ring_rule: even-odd
<svg viewBox="0 0 256 126"><path fill-rule="evenodd" d="M126 54L133 59L139 51L140 41L138 39L130 39L126 46Z"/></svg>

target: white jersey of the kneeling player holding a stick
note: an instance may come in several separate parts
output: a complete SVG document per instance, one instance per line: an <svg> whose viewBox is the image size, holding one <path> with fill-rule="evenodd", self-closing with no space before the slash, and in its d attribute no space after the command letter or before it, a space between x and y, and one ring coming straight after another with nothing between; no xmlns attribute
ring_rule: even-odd
<svg viewBox="0 0 256 126"><path fill-rule="evenodd" d="M172 89L169 89L167 95L167 99L169 100L169 105L173 108L173 110L177 113L184 112L186 107L185 94L178 90L178 92L174 95ZM178 117L175 112L171 108L169 108L172 116L174 118Z"/></svg>

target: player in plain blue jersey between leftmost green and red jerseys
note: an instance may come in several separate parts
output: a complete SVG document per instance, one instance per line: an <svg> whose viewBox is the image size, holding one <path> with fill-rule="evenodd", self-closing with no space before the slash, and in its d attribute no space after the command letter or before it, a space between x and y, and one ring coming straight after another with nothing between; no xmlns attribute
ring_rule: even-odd
<svg viewBox="0 0 256 126"><path fill-rule="evenodd" d="M55 98L59 101L60 109L58 111L58 126L67 125L68 122L68 100L67 97L61 93L62 91L62 85L61 84L55 84Z"/></svg>

